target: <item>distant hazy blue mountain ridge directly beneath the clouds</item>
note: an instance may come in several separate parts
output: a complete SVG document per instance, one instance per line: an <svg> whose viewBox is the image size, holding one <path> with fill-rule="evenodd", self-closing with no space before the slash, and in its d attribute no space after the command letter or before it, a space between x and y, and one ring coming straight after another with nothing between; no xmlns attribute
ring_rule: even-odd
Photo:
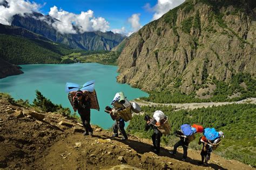
<svg viewBox="0 0 256 170"><path fill-rule="evenodd" d="M38 12L24 16L15 15L12 25L25 28L29 31L53 40L53 42L69 45L74 49L84 50L111 50L117 46L125 37L109 32L84 32L77 34L62 34L52 27L57 19ZM74 26L75 27L75 26Z"/></svg>

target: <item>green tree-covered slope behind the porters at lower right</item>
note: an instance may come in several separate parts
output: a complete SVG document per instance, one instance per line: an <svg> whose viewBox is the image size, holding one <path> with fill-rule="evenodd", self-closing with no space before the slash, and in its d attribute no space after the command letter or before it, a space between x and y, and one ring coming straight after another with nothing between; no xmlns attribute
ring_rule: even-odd
<svg viewBox="0 0 256 170"><path fill-rule="evenodd" d="M146 114L151 115L156 110L163 111L169 118L171 135L163 137L164 144L173 146L178 140L173 133L179 130L183 124L199 124L204 127L214 127L223 131L225 138L221 141L215 153L229 159L236 159L256 166L256 105L255 104L232 104L218 107L198 108L192 111L180 110L174 112L169 106L143 107ZM144 115L135 115L130 121L127 131L151 138L152 131L145 132ZM198 138L190 144L190 148L201 149L197 144ZM188 155L189 157L189 155Z"/></svg>

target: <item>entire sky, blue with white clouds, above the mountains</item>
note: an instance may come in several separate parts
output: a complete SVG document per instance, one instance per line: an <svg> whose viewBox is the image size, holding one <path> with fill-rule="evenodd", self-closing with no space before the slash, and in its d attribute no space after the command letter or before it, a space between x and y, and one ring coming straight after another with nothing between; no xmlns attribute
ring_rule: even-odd
<svg viewBox="0 0 256 170"><path fill-rule="evenodd" d="M1 5L8 2L8 8ZM129 36L185 0L0 0L0 23L10 25L12 16L33 11L58 19L50 23L60 33L113 31ZM78 30L73 28L75 24Z"/></svg>

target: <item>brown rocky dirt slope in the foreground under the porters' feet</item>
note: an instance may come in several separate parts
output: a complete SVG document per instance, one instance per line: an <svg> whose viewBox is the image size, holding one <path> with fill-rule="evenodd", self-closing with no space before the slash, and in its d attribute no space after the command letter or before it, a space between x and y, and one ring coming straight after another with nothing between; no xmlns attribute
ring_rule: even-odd
<svg viewBox="0 0 256 170"><path fill-rule="evenodd" d="M171 147L151 152L151 140L129 135L111 138L112 132L93 126L94 135L82 135L75 120L59 114L37 113L0 99L0 168L14 169L252 169L235 160L212 154L208 167L200 166L199 151L173 157ZM181 150L178 150L181 152Z"/></svg>

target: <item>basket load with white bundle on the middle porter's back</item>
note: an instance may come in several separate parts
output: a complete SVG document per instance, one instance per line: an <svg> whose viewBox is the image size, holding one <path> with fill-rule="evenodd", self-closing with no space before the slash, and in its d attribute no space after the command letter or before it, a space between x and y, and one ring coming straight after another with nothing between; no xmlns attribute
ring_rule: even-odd
<svg viewBox="0 0 256 170"><path fill-rule="evenodd" d="M168 121L168 117L164 115L162 111L154 112L153 117L159 123L158 125L154 125L154 126L156 126L158 130L164 135L170 134L171 127Z"/></svg>

